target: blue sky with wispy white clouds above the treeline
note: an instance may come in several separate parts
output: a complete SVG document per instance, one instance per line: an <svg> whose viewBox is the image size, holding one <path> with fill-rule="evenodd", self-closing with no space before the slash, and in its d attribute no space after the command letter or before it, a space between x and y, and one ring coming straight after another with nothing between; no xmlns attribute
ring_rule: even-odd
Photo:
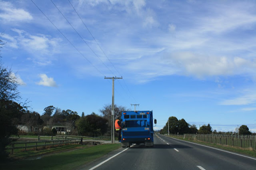
<svg viewBox="0 0 256 170"><path fill-rule="evenodd" d="M0 0L2 61L31 110L100 114L112 98L104 76L122 76L115 104L153 110L155 130L175 116L256 132L255 1L33 2Z"/></svg>

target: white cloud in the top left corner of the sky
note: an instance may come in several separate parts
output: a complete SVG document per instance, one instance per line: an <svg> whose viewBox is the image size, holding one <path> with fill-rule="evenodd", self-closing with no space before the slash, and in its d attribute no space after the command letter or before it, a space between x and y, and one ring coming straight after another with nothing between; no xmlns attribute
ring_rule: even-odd
<svg viewBox="0 0 256 170"><path fill-rule="evenodd" d="M15 8L10 2L0 1L0 3L2 22L24 22L33 19L29 12Z"/></svg>

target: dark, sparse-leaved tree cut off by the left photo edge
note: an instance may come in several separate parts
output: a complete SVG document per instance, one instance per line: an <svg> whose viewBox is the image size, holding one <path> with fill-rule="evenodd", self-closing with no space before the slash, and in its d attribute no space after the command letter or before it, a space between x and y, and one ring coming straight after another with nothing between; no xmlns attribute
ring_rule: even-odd
<svg viewBox="0 0 256 170"><path fill-rule="evenodd" d="M4 42L0 40L0 48ZM1 56L0 56L1 57ZM22 113L25 112L20 104L14 102L20 99L18 83L12 71L3 66L0 60L0 160L3 161L7 156L5 147L14 140L11 136L18 136L16 125Z"/></svg>

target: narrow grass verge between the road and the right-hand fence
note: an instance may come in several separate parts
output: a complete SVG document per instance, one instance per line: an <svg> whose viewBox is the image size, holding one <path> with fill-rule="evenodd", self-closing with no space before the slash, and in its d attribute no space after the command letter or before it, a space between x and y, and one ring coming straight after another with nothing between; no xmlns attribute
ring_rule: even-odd
<svg viewBox="0 0 256 170"><path fill-rule="evenodd" d="M240 153L240 154L246 154L248 156L256 157L256 151L253 150L252 148L240 148L240 147L234 147L234 146L229 146L229 145L221 145L221 144L218 144L218 143L203 142L203 141L195 140L195 139L192 139L192 138L183 139L183 138L177 137L175 135L170 135L170 137L177 138L177 139L180 139L180 140L189 141L189 142L193 142L193 143L197 143L197 144L202 144L202 145L206 145L206 146L212 146L214 148L220 148L220 149L223 149L223 150L228 150L228 151L232 151L232 152L236 152L236 153Z"/></svg>

